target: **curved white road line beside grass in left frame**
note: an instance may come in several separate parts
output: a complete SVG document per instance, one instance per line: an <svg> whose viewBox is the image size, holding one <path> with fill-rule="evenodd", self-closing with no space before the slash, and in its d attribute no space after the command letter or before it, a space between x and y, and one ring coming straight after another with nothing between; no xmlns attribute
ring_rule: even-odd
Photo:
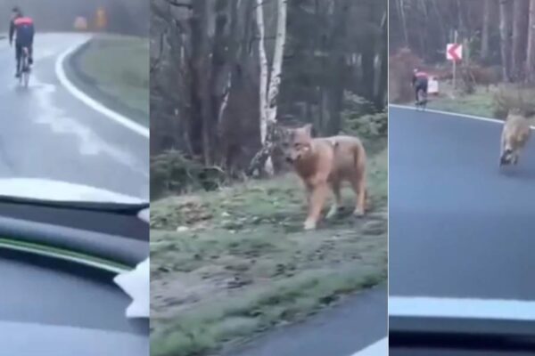
<svg viewBox="0 0 535 356"><path fill-rule="evenodd" d="M73 52L75 52L81 45L85 44L87 41L89 41L91 37L88 37L85 41L75 44L71 46L67 51L62 53L57 61L55 62L55 72L56 76L60 79L60 82L62 85L79 101L84 102L87 106L89 106L91 109L95 109L96 111L100 112L106 117L111 118L111 120L117 122L119 125L123 125L127 127L128 129L134 131L136 134L141 134L142 136L146 137L147 139L150 138L150 130L145 127L144 125L139 125L136 122L130 120L128 117L124 117L120 115L119 113L106 108L98 101L95 101L94 99L90 98L86 95L86 93L83 93L80 91L75 85L73 85L69 78L67 78L67 75L65 74L64 64L65 60L69 55Z"/></svg>

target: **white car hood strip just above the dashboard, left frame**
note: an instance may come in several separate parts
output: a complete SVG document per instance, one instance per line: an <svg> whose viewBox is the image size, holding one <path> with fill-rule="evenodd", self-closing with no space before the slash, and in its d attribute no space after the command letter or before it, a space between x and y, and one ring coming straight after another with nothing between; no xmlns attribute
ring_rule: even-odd
<svg viewBox="0 0 535 356"><path fill-rule="evenodd" d="M0 179L0 196L91 203L146 203L144 199L111 190L40 178Z"/></svg>

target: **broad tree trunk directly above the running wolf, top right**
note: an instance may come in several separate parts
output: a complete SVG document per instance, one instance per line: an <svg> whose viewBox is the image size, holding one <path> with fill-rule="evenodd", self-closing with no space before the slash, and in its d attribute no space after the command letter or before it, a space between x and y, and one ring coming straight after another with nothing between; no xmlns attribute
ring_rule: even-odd
<svg viewBox="0 0 535 356"><path fill-rule="evenodd" d="M525 75L526 46L528 44L528 22L530 0L514 0L513 3L513 68L515 82Z"/></svg>

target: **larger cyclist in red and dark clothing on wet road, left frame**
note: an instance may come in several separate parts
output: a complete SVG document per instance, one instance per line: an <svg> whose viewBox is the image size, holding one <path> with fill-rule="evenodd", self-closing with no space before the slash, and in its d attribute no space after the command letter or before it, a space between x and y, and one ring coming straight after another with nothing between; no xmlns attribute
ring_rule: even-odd
<svg viewBox="0 0 535 356"><path fill-rule="evenodd" d="M9 44L12 45L13 35L15 36L15 58L17 60L17 71L15 77L21 77L21 56L22 49L28 48L28 62L33 63L33 38L35 28L33 20L24 16L19 6L12 8L12 20L9 26Z"/></svg>

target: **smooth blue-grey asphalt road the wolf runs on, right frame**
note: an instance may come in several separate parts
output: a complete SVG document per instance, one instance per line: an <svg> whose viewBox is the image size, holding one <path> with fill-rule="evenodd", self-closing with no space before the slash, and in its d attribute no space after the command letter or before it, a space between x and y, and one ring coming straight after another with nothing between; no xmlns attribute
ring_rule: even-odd
<svg viewBox="0 0 535 356"><path fill-rule="evenodd" d="M500 172L499 123L391 107L389 125L390 295L535 300L535 140Z"/></svg>

